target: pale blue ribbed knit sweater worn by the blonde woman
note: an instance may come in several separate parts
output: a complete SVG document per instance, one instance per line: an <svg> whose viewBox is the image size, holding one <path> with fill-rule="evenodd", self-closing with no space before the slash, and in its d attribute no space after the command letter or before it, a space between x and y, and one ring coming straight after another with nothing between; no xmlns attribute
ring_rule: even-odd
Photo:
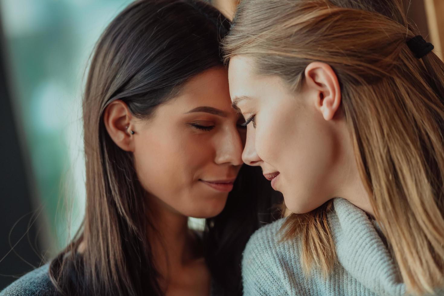
<svg viewBox="0 0 444 296"><path fill-rule="evenodd" d="M260 228L246 245L242 259L245 296L405 295L405 285L378 227L345 199L336 198L333 205L329 213L337 251L333 272L327 278L317 268L304 274L300 241L278 242L282 218Z"/></svg>

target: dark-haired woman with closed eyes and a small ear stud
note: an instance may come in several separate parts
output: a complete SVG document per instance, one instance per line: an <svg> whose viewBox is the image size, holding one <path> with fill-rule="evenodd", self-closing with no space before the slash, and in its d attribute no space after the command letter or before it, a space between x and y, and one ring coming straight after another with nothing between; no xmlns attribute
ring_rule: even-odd
<svg viewBox="0 0 444 296"><path fill-rule="evenodd" d="M83 98L83 225L1 295L241 294L241 252L270 196L241 168L245 130L219 56L228 26L195 0L139 0L111 22ZM207 218L205 231L188 217Z"/></svg>

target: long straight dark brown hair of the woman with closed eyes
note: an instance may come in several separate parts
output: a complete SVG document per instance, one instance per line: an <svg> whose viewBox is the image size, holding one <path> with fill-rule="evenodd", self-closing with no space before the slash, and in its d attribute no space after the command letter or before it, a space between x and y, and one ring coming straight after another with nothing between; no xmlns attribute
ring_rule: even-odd
<svg viewBox="0 0 444 296"><path fill-rule="evenodd" d="M152 115L188 79L223 65L219 42L229 25L215 8L198 0L139 0L100 37L83 97L86 213L72 243L52 261L51 278L59 292L163 295L147 235L152 223L146 193L132 154L107 134L103 111L120 99L135 117ZM270 207L258 199L260 182L260 171L242 168L226 208L207 221L206 261L226 295L242 292L241 252L258 228L258 208ZM81 243L86 248L80 255Z"/></svg>

